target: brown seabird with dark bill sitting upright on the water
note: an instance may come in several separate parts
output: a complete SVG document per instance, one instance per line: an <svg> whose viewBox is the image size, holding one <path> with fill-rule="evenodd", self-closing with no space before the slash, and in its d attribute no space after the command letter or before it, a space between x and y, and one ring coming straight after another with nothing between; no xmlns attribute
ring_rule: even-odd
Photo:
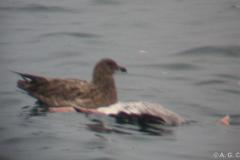
<svg viewBox="0 0 240 160"><path fill-rule="evenodd" d="M126 72L112 59L100 60L91 82L79 79L58 79L18 73L23 80L17 85L47 107L97 108L117 102L115 71Z"/></svg>

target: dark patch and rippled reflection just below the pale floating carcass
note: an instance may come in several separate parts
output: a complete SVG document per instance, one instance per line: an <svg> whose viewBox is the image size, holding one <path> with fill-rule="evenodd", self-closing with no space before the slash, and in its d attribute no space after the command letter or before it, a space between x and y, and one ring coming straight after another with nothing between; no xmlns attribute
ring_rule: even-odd
<svg viewBox="0 0 240 160"><path fill-rule="evenodd" d="M91 124L87 124L87 128L99 133L116 133L116 134L147 134L162 136L172 134L171 127L165 126L162 119L152 117L149 115L127 115L119 113L112 117L114 125L107 126L99 119L93 119Z"/></svg>

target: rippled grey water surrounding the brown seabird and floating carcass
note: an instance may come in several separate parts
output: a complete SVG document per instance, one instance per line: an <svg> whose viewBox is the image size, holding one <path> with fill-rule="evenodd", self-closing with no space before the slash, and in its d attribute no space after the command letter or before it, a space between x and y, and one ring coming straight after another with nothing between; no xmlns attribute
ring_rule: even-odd
<svg viewBox="0 0 240 160"><path fill-rule="evenodd" d="M38 114L11 72L91 80L104 57L128 68L115 75L120 101L161 103L194 123L148 131ZM1 160L240 155L239 0L1 0L0 75ZM225 115L232 125L217 123Z"/></svg>

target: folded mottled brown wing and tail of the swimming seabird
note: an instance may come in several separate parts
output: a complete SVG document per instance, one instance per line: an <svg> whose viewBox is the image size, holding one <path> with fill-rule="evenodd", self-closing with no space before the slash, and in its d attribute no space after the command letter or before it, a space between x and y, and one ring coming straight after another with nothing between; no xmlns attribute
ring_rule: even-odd
<svg viewBox="0 0 240 160"><path fill-rule="evenodd" d="M49 107L80 106L91 101L95 86L77 79L51 79L18 73L18 87Z"/></svg>

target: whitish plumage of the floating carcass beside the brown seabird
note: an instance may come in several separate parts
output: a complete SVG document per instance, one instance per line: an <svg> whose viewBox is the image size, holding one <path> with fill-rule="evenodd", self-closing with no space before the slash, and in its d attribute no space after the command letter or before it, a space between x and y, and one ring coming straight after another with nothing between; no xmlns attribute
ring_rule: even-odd
<svg viewBox="0 0 240 160"><path fill-rule="evenodd" d="M178 126L186 122L183 117L164 108L160 104L142 101L118 102L97 109L83 109L80 107L76 107L75 109L80 112L96 113L113 117L121 115L125 115L124 117L148 117L148 119L155 119L157 122L169 126Z"/></svg>

